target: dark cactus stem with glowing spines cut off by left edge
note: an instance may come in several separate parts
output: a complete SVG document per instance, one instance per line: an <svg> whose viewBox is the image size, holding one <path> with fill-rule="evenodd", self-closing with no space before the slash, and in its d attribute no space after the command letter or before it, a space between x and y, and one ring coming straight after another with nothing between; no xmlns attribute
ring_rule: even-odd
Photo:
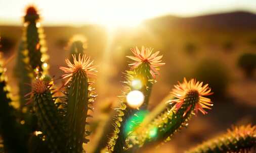
<svg viewBox="0 0 256 153"><path fill-rule="evenodd" d="M26 139L28 135L23 135L26 133L22 125L24 121L17 122L15 117L17 111L11 102L10 87L7 85L5 68L2 59L0 59L0 134L4 141L4 150L5 152L27 152Z"/></svg>

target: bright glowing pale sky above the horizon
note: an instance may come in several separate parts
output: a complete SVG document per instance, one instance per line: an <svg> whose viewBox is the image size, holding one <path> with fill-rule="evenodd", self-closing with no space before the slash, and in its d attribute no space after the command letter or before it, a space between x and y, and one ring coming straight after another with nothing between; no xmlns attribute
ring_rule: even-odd
<svg viewBox="0 0 256 153"><path fill-rule="evenodd" d="M243 10L256 12L256 0L0 0L0 24L20 24L24 8L35 4L44 24L136 24L166 14L196 16Z"/></svg>

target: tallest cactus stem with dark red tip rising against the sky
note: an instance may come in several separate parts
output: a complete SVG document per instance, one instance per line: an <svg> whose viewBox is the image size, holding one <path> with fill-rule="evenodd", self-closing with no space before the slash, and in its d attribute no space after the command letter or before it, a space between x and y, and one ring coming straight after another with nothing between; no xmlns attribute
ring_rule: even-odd
<svg viewBox="0 0 256 153"><path fill-rule="evenodd" d="M46 74L49 67L46 54L46 42L44 40L44 30L40 26L39 14L34 6L30 6L26 10L24 17L24 33L23 41L25 42L26 50L24 61L30 65L31 69L38 68Z"/></svg>

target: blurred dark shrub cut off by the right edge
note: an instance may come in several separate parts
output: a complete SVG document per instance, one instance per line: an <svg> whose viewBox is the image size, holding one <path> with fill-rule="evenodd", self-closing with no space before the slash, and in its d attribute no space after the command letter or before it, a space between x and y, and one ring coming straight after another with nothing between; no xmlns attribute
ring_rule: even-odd
<svg viewBox="0 0 256 153"><path fill-rule="evenodd" d="M256 54L243 53L238 58L238 66L243 69L247 77L252 77L253 71L256 68Z"/></svg>

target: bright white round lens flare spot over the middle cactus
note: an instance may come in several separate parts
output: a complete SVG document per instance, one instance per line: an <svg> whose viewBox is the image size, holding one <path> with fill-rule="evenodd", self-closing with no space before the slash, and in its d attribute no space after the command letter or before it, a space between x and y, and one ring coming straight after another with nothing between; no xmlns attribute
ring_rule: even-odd
<svg viewBox="0 0 256 153"><path fill-rule="evenodd" d="M126 96L127 104L132 108L140 107L144 102L144 95L138 90L131 91Z"/></svg>

